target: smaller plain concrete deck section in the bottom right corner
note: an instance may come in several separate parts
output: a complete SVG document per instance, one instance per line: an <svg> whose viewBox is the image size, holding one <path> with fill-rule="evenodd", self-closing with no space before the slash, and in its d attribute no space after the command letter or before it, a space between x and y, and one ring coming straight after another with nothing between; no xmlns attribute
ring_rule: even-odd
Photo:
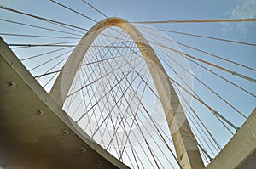
<svg viewBox="0 0 256 169"><path fill-rule="evenodd" d="M254 169L256 166L256 109L207 169Z"/></svg>

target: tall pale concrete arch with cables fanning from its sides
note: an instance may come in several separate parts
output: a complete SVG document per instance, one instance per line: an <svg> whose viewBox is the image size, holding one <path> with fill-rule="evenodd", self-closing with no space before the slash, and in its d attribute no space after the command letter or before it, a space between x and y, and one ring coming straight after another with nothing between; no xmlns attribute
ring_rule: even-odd
<svg viewBox="0 0 256 169"><path fill-rule="evenodd" d="M177 131L173 132L171 130L173 122L177 122L175 119L177 111L180 113L180 110L178 110L180 102L172 87L172 83L166 77L166 70L163 65L161 65L160 59L158 59L157 55L154 53L154 49L149 45L145 37L143 37L143 34L126 20L113 17L102 20L94 25L90 31L82 37L78 45L74 48L73 53L67 59L67 62L63 66L50 91L50 96L62 107L73 83L74 76L84 58L84 54L86 54L96 37L101 34L102 31L112 26L121 28L131 36L133 41L137 44L137 48L139 48L143 58L147 60L148 70L153 78L161 104L167 105L163 106L163 109L170 132L172 133L172 140L180 166L183 168L203 168L201 155L196 145L195 137L189 127L189 122L185 119L182 126Z"/></svg>

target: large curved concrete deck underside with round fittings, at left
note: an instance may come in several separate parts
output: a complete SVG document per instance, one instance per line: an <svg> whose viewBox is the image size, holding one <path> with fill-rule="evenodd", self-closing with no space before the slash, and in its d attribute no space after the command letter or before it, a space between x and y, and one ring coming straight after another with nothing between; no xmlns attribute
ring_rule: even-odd
<svg viewBox="0 0 256 169"><path fill-rule="evenodd" d="M32 76L15 58L12 64L5 60L6 57L13 58L14 54L4 45L1 41L0 166L9 169L119 168L84 143L77 133L55 115L53 107L62 115L65 112L48 98L49 95L42 87L39 93L32 90L40 88L38 82L24 82L24 77L32 79ZM21 69L23 77L15 69ZM9 86L9 82L12 85ZM43 95L44 100L40 99ZM44 114L37 115L37 110L42 110ZM63 134L63 130L67 130L68 134ZM86 151L83 153L81 148ZM102 165L98 163L100 161ZM114 162L121 165L116 159Z"/></svg>

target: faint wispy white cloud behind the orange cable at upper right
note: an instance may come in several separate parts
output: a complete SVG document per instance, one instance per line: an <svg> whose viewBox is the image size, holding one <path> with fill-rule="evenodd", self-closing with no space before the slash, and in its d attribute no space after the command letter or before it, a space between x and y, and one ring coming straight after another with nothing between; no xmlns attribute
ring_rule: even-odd
<svg viewBox="0 0 256 169"><path fill-rule="evenodd" d="M256 17L256 0L247 0L244 3L232 8L226 14L229 19L247 19ZM224 23L224 31L239 31L239 33L246 35L250 22L240 22L236 24Z"/></svg>

